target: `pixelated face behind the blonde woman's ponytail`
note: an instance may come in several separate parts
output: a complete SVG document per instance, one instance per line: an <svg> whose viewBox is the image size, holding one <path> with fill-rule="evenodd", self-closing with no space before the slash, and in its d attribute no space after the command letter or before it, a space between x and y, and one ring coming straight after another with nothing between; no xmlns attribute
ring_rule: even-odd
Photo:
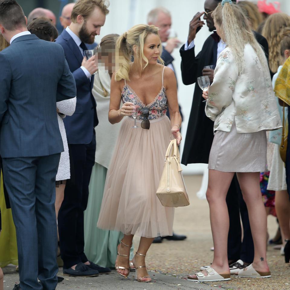
<svg viewBox="0 0 290 290"><path fill-rule="evenodd" d="M120 68L123 60L123 56L118 48L110 44L104 44L98 47L96 57L98 58L98 68L110 75Z"/></svg>

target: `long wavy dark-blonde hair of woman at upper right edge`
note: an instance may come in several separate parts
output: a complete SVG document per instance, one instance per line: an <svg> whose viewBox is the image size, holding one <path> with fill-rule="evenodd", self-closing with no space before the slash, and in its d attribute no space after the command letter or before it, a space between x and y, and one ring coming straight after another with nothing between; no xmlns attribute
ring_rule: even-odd
<svg viewBox="0 0 290 290"><path fill-rule="evenodd" d="M285 27L290 27L290 16L279 12L270 15L264 24L262 35L269 44L269 67L272 72L277 72L282 59L280 54L280 42Z"/></svg>

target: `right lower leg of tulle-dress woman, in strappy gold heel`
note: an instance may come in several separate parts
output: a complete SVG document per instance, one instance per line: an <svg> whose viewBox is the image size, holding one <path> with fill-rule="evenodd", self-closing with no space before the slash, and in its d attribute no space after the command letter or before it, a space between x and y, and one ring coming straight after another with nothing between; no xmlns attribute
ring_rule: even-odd
<svg viewBox="0 0 290 290"><path fill-rule="evenodd" d="M153 240L154 240L154 238L141 237L137 253L146 255L148 249L150 248L150 246L151 246L151 244L153 242ZM149 276L146 268L137 269L138 266L145 266L145 256L135 255L134 258L132 259L132 262L136 266L137 280L140 280L140 281L151 281L151 278L141 278L140 279L140 277Z"/></svg>

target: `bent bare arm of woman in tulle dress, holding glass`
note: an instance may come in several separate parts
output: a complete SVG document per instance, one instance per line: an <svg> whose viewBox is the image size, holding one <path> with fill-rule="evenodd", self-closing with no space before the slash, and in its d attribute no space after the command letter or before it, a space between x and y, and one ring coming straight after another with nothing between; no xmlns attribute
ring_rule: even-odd
<svg viewBox="0 0 290 290"><path fill-rule="evenodd" d="M109 108L109 122L111 124L119 123L124 116L132 116L133 103L126 102L120 109L121 103L121 81L115 81L115 73L111 79L111 95L110 95L110 108ZM126 113L125 113L126 110Z"/></svg>

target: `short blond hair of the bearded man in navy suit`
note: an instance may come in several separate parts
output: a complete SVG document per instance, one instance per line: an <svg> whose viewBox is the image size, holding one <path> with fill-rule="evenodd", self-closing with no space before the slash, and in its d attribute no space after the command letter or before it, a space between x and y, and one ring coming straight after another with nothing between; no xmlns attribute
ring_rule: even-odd
<svg viewBox="0 0 290 290"><path fill-rule="evenodd" d="M78 0L72 8L72 22L76 23L76 18L78 15L82 15L82 17L86 20L95 10L95 7L100 8L101 11L107 15L109 13L109 5L109 1L105 0Z"/></svg>

